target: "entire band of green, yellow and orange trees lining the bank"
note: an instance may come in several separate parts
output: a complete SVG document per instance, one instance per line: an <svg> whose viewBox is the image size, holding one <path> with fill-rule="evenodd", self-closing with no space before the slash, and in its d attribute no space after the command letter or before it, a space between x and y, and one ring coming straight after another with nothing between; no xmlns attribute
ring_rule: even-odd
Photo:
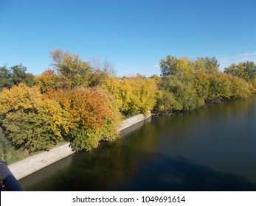
<svg viewBox="0 0 256 206"><path fill-rule="evenodd" d="M256 93L256 65L219 71L215 57L167 56L161 75L115 77L108 61L85 62L78 54L50 52L52 69L40 75L23 65L0 67L0 155L15 163L70 142L80 151L119 138L124 118L151 110L173 115Z"/></svg>

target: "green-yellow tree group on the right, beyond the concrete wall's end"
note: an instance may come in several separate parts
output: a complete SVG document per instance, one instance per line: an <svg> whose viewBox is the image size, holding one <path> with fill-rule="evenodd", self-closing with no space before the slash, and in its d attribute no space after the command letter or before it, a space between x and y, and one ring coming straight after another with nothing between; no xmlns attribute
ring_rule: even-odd
<svg viewBox="0 0 256 206"><path fill-rule="evenodd" d="M256 65L253 62L232 64L219 71L215 57L198 58L167 56L159 61L162 92L155 109L172 113L176 110L193 110L205 103L226 99L246 98L255 93Z"/></svg>

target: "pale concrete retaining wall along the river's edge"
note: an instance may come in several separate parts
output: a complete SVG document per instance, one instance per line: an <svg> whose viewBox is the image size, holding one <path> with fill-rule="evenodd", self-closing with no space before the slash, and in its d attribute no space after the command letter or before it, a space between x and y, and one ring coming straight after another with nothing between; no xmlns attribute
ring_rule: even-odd
<svg viewBox="0 0 256 206"><path fill-rule="evenodd" d="M122 131L123 129L131 127L132 125L137 124L140 121L145 120L146 118L149 118L150 116L151 114L148 113L147 116L139 114L137 116L127 118L122 121L122 124L120 125L118 130ZM69 143L66 143L62 146L51 149L48 152L41 152L31 157L27 157L24 160L18 161L17 163L8 166L8 168L13 173L13 176L16 178L16 180L20 180L21 178L26 177L27 175L32 174L33 172L49 166L50 164L55 163L58 160L63 159L64 157L67 157L70 154L74 153L75 152L72 151Z"/></svg>

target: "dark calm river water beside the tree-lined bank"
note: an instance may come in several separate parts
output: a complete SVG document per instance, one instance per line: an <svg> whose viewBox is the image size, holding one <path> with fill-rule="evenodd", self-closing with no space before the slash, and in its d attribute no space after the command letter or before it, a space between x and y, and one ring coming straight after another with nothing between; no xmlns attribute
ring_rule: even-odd
<svg viewBox="0 0 256 206"><path fill-rule="evenodd" d="M19 183L25 191L256 191L256 96L148 118Z"/></svg>

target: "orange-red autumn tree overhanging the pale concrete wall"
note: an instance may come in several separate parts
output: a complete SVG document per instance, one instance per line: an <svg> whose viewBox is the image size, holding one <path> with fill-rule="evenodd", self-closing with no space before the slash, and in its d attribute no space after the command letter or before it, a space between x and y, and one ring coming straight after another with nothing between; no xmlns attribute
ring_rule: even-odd
<svg viewBox="0 0 256 206"><path fill-rule="evenodd" d="M69 113L66 138L75 150L91 150L101 140L117 138L120 112L113 97L102 88L74 88L49 94Z"/></svg>

